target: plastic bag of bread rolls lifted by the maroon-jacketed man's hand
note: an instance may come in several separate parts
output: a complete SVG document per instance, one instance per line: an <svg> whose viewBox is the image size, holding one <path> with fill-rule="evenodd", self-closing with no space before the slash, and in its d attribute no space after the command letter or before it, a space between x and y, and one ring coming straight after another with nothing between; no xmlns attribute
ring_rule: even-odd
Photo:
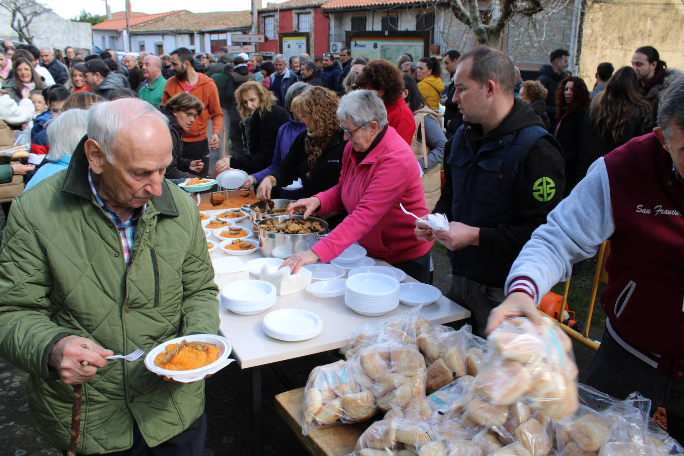
<svg viewBox="0 0 684 456"><path fill-rule="evenodd" d="M553 420L577 410L577 366L570 338L549 317L540 332L525 317L501 323L487 338L476 387L491 406L522 401Z"/></svg>

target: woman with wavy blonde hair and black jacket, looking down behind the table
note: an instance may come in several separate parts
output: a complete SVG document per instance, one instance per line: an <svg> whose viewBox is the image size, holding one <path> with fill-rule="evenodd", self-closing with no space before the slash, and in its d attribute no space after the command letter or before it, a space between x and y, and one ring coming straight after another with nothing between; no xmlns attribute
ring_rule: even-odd
<svg viewBox="0 0 684 456"><path fill-rule="evenodd" d="M242 119L244 136L247 139L246 155L227 157L216 162L214 171L218 174L229 167L244 170L247 174L259 172L273 161L278 129L289 119L287 111L276 103L273 92L266 90L257 81L242 83L235 90L235 103Z"/></svg>

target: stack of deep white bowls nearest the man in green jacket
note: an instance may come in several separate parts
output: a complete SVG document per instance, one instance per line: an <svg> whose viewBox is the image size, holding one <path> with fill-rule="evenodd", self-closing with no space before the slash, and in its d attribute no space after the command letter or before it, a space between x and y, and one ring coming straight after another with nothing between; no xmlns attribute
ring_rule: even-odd
<svg viewBox="0 0 684 456"><path fill-rule="evenodd" d="M276 286L265 280L239 280L221 290L221 306L240 315L256 315L276 304Z"/></svg>

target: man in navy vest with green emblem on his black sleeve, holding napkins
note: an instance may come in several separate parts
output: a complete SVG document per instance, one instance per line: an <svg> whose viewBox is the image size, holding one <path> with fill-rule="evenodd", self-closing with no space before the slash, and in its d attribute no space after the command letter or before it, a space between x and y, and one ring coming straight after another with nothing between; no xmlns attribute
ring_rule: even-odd
<svg viewBox="0 0 684 456"><path fill-rule="evenodd" d="M449 230L419 224L419 239L451 252L447 297L469 308L473 332L503 301L521 248L562 199L564 160L534 110L514 98L515 70L501 51L477 46L460 58L453 101L463 124L445 148L445 183L434 209Z"/></svg>

